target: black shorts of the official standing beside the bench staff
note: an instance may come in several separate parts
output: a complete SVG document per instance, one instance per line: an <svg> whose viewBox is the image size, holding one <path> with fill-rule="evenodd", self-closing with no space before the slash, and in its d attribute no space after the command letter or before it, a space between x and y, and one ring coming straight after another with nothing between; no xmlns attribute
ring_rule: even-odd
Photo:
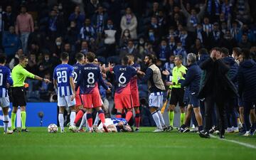
<svg viewBox="0 0 256 160"><path fill-rule="evenodd" d="M171 89L171 100L170 100L170 105L179 105L180 107L185 107L185 104L183 102L184 98L184 88L176 88L173 87Z"/></svg>

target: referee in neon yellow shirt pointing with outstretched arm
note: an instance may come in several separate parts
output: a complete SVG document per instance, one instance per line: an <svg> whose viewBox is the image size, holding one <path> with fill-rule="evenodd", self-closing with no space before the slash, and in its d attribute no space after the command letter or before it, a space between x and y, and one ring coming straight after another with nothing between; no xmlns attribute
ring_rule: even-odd
<svg viewBox="0 0 256 160"><path fill-rule="evenodd" d="M11 112L11 129L14 132L18 132L15 127L15 121L16 112L19 106L21 107L21 132L28 132L28 129L26 129L26 97L24 90L24 81L27 77L36 80L42 80L47 83L50 82L50 80L29 73L25 69L26 65L28 65L28 58L25 55L21 55L18 60L18 65L16 65L11 72L11 77L14 80L14 85L11 87L13 99L13 110Z"/></svg>

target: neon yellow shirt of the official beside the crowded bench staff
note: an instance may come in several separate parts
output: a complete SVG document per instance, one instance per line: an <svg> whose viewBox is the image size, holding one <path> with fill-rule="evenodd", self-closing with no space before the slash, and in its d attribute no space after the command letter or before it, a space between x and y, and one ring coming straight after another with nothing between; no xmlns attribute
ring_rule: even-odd
<svg viewBox="0 0 256 160"><path fill-rule="evenodd" d="M184 65L181 65L181 67L177 67L175 66L174 69L172 70L172 80L171 82L175 82L176 85L171 85L171 87L176 87L179 88L181 87L181 84L178 84L178 80L185 80L185 78L183 78L181 73L185 73L186 74L186 70L187 68Z"/></svg>

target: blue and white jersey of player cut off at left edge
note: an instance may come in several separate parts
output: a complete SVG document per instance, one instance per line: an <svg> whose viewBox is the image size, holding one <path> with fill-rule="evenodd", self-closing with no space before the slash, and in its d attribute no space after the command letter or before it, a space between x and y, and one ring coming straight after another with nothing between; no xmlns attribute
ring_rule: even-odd
<svg viewBox="0 0 256 160"><path fill-rule="evenodd" d="M11 79L11 70L3 65L0 65L0 97L8 97L6 83L9 83L9 85L13 85L14 83L14 81Z"/></svg>

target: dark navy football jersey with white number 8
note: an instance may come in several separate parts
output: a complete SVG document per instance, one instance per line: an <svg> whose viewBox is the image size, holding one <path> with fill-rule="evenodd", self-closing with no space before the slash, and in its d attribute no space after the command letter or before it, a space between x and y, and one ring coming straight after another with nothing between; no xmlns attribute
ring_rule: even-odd
<svg viewBox="0 0 256 160"><path fill-rule="evenodd" d="M102 87L107 90L108 87L103 81L99 66L92 63L87 63L82 65L80 71L81 73L78 77L77 85L75 86L76 89L80 87L80 93L90 94L94 92L94 90L99 90L99 85L102 85Z"/></svg>

